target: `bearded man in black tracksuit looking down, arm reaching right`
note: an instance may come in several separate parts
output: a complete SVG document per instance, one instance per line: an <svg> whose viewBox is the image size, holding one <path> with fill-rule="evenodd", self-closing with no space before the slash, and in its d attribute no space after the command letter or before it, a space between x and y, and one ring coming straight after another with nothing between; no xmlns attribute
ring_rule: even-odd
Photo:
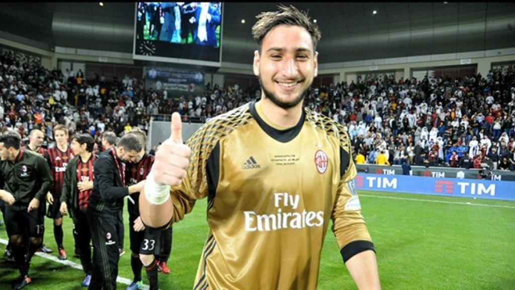
<svg viewBox="0 0 515 290"><path fill-rule="evenodd" d="M118 276L117 216L124 197L140 192L145 181L126 187L125 163L134 162L141 151L138 138L123 136L116 146L98 156L94 164L94 187L86 217L93 240L93 272L89 289L116 289Z"/></svg>

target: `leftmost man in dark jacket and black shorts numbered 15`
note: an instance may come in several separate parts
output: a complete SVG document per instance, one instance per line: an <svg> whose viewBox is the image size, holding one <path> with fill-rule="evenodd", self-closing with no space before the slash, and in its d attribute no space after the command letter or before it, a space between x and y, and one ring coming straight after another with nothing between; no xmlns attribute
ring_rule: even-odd
<svg viewBox="0 0 515 290"><path fill-rule="evenodd" d="M41 247L43 216L40 202L52 187L53 179L45 158L20 148L21 137L10 131L0 136L0 199L6 204L5 219L16 267L23 280L14 285L21 289L32 281L28 275L30 260ZM29 249L25 248L23 232L28 231ZM25 257L25 254L27 256Z"/></svg>

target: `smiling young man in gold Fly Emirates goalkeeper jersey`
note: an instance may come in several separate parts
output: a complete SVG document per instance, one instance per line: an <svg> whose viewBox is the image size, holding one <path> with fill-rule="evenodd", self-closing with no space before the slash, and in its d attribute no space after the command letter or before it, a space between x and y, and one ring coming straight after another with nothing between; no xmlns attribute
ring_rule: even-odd
<svg viewBox="0 0 515 290"><path fill-rule="evenodd" d="M315 289L333 220L357 287L379 289L349 137L303 108L320 31L303 12L280 6L258 15L252 34L261 100L211 119L186 144L174 114L140 195L143 222L166 228L207 197L210 230L194 289Z"/></svg>

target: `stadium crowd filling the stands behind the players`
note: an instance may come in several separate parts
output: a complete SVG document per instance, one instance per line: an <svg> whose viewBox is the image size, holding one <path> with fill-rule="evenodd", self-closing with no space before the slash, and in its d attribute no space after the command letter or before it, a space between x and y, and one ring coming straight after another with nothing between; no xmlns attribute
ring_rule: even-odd
<svg viewBox="0 0 515 290"><path fill-rule="evenodd" d="M70 136L89 132L117 136L151 115L179 111L184 121L206 121L256 98L259 87L207 85L205 93L174 100L166 91L146 91L142 80L106 82L98 75L20 65L0 59L0 127L16 129L25 140L32 128L53 141L52 128L64 124ZM350 84L312 87L305 106L344 125L356 163L450 166L515 170L515 68L451 79L359 77Z"/></svg>

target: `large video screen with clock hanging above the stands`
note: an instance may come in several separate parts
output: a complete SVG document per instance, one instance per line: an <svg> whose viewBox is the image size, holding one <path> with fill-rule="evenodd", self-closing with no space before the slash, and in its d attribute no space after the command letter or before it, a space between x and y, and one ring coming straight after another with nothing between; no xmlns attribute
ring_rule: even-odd
<svg viewBox="0 0 515 290"><path fill-rule="evenodd" d="M221 2L138 2L133 58L220 66Z"/></svg>

